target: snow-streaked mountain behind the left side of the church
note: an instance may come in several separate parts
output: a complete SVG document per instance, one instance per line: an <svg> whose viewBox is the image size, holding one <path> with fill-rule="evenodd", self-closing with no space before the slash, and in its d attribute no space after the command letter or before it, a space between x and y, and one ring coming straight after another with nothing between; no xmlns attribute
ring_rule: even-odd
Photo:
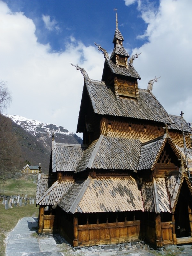
<svg viewBox="0 0 192 256"><path fill-rule="evenodd" d="M47 124L18 115L4 116L12 120L12 130L20 145L23 161L28 161L31 165L41 163L44 173L49 170L53 134L57 143L82 143L80 137L62 126Z"/></svg>

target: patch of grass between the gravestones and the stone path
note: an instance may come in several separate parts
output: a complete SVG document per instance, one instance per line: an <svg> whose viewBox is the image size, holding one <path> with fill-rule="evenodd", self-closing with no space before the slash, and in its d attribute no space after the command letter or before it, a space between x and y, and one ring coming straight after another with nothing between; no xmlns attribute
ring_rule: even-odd
<svg viewBox="0 0 192 256"><path fill-rule="evenodd" d="M39 207L36 204L28 204L24 207L13 207L5 210L5 206L0 201L0 256L5 255L4 240L6 235L16 226L17 222L23 217L38 217Z"/></svg>

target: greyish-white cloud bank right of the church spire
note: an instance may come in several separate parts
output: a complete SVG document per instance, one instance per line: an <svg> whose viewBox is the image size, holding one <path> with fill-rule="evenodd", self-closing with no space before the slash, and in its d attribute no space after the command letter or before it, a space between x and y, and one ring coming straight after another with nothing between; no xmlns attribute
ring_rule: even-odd
<svg viewBox="0 0 192 256"><path fill-rule="evenodd" d="M192 121L192 1L161 0L158 12L140 9L148 23L143 37L148 43L135 52L142 54L134 61L141 76L139 86L147 88L148 81L161 78L153 86L153 93L164 108L174 115L185 112Z"/></svg>

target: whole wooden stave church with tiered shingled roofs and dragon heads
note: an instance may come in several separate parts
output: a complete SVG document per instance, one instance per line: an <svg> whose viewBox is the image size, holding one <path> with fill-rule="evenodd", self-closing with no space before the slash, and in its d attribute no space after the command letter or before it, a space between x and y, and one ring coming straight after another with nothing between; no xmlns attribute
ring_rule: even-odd
<svg viewBox="0 0 192 256"><path fill-rule="evenodd" d="M138 88L138 54L126 52L117 14L115 27L110 57L95 46L101 81L72 64L83 75L83 144L53 136L49 174L37 180L38 233L60 233L74 247L192 243L192 129L153 95L157 78Z"/></svg>

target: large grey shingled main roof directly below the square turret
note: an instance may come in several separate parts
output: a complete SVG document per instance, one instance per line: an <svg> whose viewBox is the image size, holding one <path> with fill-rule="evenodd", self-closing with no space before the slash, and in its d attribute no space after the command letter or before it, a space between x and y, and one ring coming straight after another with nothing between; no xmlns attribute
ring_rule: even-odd
<svg viewBox="0 0 192 256"><path fill-rule="evenodd" d="M138 100L127 97L117 99L113 88L106 86L105 82L86 80L85 85L95 114L172 123L163 106L147 90L139 89Z"/></svg>

